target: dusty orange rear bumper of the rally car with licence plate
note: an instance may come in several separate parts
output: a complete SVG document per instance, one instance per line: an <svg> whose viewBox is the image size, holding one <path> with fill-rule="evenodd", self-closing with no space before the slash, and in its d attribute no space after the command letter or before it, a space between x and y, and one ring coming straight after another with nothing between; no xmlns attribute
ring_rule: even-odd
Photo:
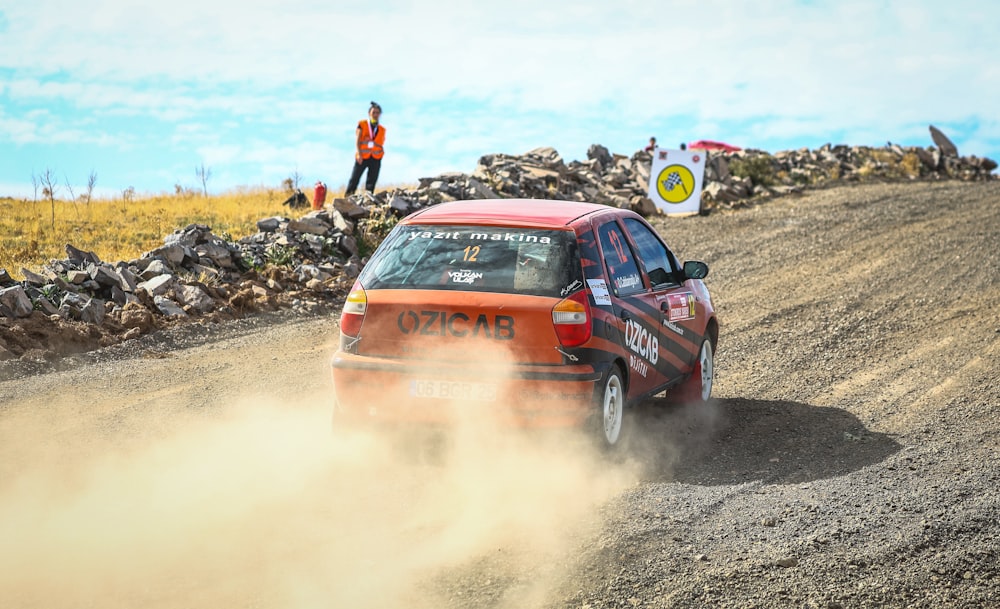
<svg viewBox="0 0 1000 609"><path fill-rule="evenodd" d="M489 366L400 361L338 352L331 361L338 419L355 424L494 422L578 427L594 412L593 365Z"/></svg>

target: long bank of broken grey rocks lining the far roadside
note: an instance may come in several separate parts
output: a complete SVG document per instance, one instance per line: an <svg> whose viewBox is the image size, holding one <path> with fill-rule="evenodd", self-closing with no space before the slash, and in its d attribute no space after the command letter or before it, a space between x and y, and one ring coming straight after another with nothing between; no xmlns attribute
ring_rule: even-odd
<svg viewBox="0 0 1000 609"><path fill-rule="evenodd" d="M702 207L734 208L845 181L996 177L993 160L960 157L943 133L932 127L931 134L937 145L928 148L827 144L774 155L706 152ZM445 201L561 199L656 214L646 196L651 162L647 152L624 156L599 144L587 150L586 161L568 163L552 148L489 154L472 174L445 173L412 189L334 199L300 218L265 218L256 234L235 242L192 224L140 258L115 263L67 245L66 259L50 261L40 273L22 269L23 281L0 269L0 360L57 357L39 344L71 327L79 336L69 341L70 350L88 350L177 320L323 309L339 302L365 262L363 253L398 218ZM26 330L31 323L35 327Z"/></svg>

